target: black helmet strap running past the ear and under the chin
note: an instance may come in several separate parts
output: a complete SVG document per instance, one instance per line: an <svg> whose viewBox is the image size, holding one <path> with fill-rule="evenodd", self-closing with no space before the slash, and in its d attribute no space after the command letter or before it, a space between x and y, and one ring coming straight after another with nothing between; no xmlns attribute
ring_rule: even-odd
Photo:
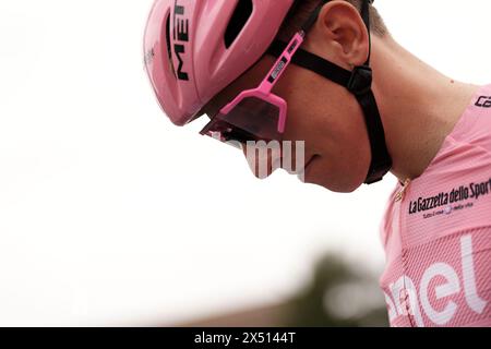
<svg viewBox="0 0 491 349"><path fill-rule="evenodd" d="M364 0L361 8L361 17L369 29L370 38L370 9L369 3L373 0ZM273 41L267 53L279 57L287 44L280 40ZM357 98L363 110L367 131L370 140L372 160L366 179L366 184L373 184L381 181L392 168L392 158L385 142L385 132L380 117L375 96L372 92L372 69L370 68L370 51L367 62L356 67L352 72L347 71L325 59L310 53L303 49L298 49L291 62L296 65L310 70L322 75L332 82L346 87Z"/></svg>

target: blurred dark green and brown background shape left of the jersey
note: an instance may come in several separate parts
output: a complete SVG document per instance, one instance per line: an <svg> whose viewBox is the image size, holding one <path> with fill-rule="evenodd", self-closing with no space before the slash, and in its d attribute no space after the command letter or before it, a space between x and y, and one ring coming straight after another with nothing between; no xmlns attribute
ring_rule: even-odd
<svg viewBox="0 0 491 349"><path fill-rule="evenodd" d="M284 303L217 314L180 326L386 327L387 311L375 275L325 254L311 282Z"/></svg>

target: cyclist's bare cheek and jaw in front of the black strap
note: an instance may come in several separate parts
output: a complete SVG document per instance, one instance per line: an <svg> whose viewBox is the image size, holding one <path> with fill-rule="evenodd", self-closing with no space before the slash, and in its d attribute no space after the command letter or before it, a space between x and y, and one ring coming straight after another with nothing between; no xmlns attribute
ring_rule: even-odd
<svg viewBox="0 0 491 349"><path fill-rule="evenodd" d="M309 76L312 77L312 76ZM344 88L314 77L278 94L288 101L287 141L306 142L306 181L334 192L352 192L366 180L371 154L361 108ZM309 86L307 88L306 86Z"/></svg>

